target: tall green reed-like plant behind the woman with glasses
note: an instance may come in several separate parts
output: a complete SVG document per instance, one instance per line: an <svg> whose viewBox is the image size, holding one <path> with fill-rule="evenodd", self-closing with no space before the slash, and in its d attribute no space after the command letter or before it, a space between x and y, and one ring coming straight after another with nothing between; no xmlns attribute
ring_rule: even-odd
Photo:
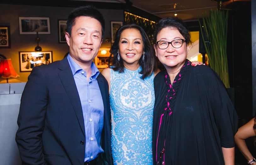
<svg viewBox="0 0 256 165"><path fill-rule="evenodd" d="M228 11L210 11L209 16L207 13L205 13L205 17L203 15L203 25L201 25L199 18L198 21L210 66L219 75L226 88L229 88L228 61L226 52Z"/></svg>

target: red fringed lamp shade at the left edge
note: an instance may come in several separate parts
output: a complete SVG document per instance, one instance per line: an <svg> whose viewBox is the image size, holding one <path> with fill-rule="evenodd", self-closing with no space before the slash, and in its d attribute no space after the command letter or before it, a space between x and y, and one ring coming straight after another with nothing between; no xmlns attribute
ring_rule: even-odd
<svg viewBox="0 0 256 165"><path fill-rule="evenodd" d="M11 59L0 60L0 77L8 79L10 77L20 77L14 70Z"/></svg>

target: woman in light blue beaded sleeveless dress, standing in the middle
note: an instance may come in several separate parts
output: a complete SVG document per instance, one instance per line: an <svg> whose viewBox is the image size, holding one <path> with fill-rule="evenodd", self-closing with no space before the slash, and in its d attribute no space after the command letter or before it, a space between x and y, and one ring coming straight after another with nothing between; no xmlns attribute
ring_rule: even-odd
<svg viewBox="0 0 256 165"><path fill-rule="evenodd" d="M155 54L138 25L117 30L111 47L111 68L102 71L109 83L115 165L152 165L152 123L155 102Z"/></svg>

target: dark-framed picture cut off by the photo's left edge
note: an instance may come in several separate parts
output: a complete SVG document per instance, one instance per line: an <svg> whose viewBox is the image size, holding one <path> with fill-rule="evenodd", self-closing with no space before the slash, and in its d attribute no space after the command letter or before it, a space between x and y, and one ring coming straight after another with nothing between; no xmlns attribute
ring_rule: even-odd
<svg viewBox="0 0 256 165"><path fill-rule="evenodd" d="M10 26L0 26L0 48L10 47Z"/></svg>

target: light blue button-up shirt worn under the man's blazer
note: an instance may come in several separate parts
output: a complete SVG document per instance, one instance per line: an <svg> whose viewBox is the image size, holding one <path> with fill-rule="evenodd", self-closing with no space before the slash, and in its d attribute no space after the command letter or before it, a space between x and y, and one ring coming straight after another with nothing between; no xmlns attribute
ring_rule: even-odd
<svg viewBox="0 0 256 165"><path fill-rule="evenodd" d="M104 105L100 93L97 76L100 71L94 63L91 65L92 75L87 81L86 72L68 55L68 62L74 76L80 97L85 128L84 162L91 161L104 152L100 146L100 136L104 121Z"/></svg>

